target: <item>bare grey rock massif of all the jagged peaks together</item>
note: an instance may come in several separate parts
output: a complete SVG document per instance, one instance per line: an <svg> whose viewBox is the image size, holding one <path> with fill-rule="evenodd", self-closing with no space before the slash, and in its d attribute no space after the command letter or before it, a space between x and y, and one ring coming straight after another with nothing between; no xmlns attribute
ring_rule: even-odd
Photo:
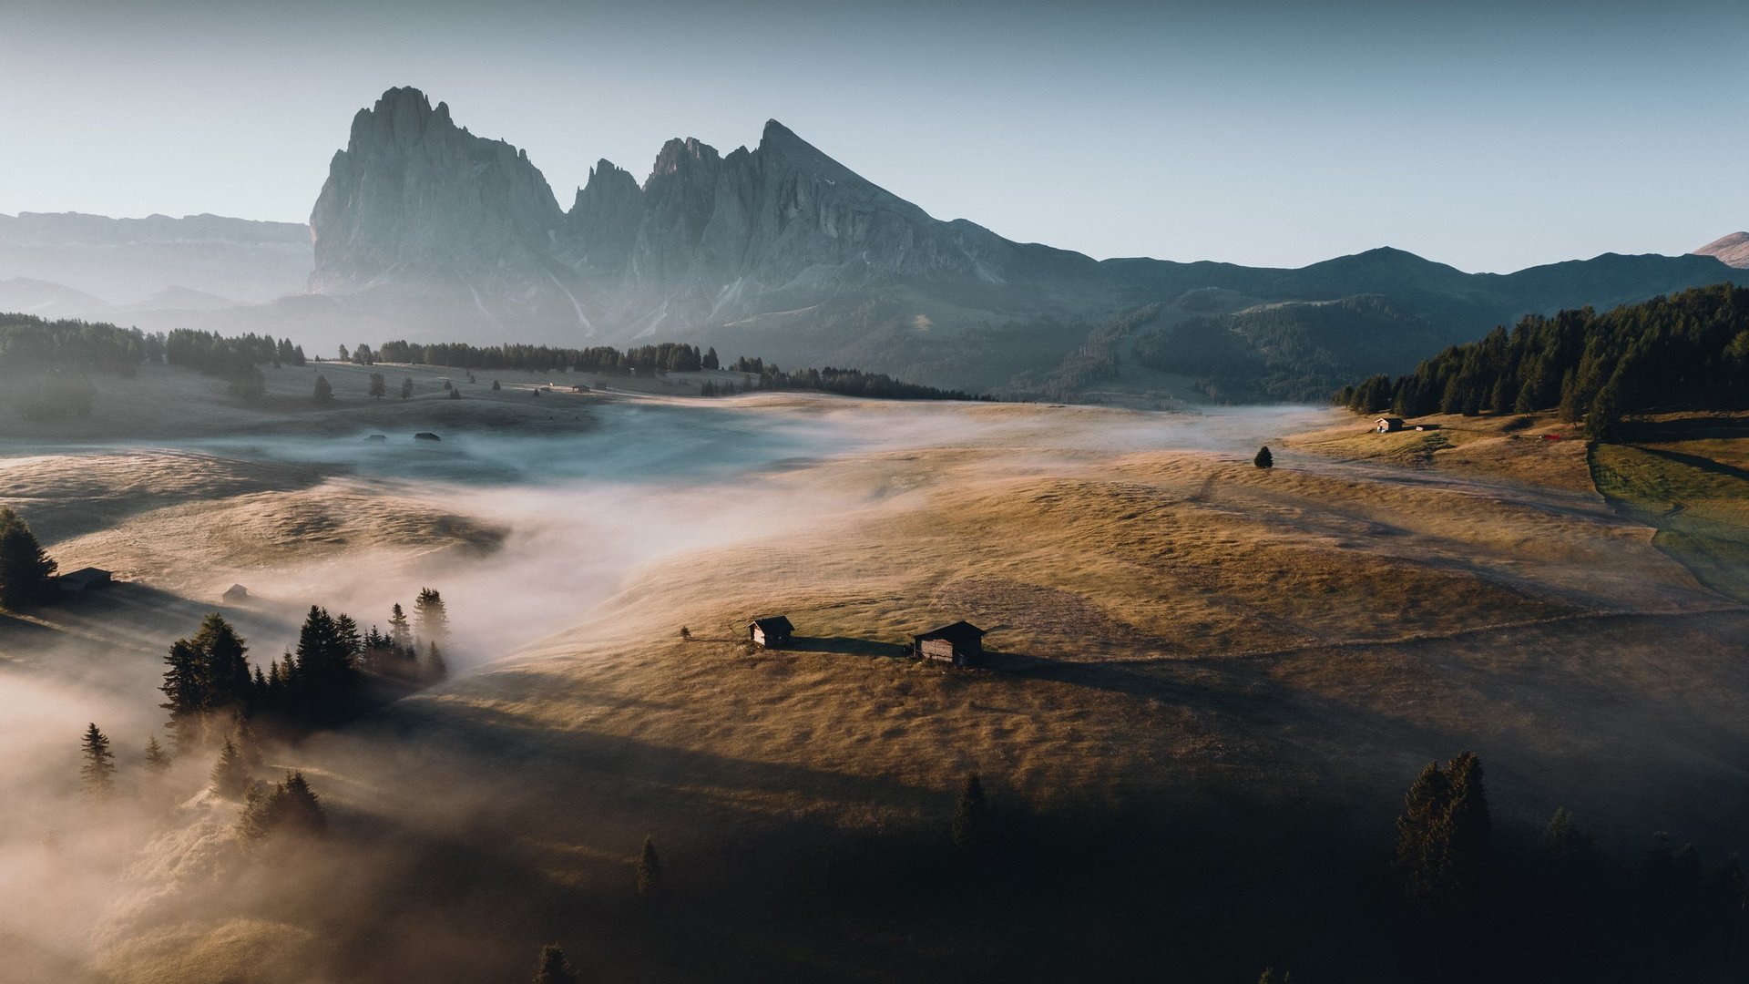
<svg viewBox="0 0 1749 984"><path fill-rule="evenodd" d="M1000 287L1097 264L941 222L784 124L722 156L670 140L642 184L598 161L560 212L526 154L456 126L416 89L352 124L310 217L317 294L367 294L584 336L675 336L894 278Z"/></svg>

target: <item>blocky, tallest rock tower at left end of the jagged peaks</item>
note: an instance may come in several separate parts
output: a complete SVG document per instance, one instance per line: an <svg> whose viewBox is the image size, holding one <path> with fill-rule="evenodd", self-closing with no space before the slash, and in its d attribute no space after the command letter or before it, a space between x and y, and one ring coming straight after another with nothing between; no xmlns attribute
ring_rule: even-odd
<svg viewBox="0 0 1749 984"><path fill-rule="evenodd" d="M544 306L563 226L528 154L456 126L418 89L388 89L352 121L310 214L313 292L442 287Z"/></svg>

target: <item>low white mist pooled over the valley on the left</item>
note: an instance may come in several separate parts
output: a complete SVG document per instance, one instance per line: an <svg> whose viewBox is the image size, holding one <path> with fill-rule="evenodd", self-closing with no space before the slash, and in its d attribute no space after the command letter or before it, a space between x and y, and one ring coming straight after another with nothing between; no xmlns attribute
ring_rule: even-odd
<svg viewBox="0 0 1749 984"><path fill-rule="evenodd" d="M416 439L404 427L364 427L341 438L280 434L180 443L168 450L191 455L177 466L192 473L187 483L138 511L108 503L105 517L114 513L112 529L47 546L51 553L72 552L63 569L114 564L103 552L128 548L138 538L170 539L150 557L177 557L175 538L198 531L203 552L164 569L122 571L128 583L108 595L47 613L44 622L58 627L52 632L5 627L0 636L5 641L0 643L0 898L5 900L0 965L9 966L0 979L107 980L110 972L91 965L94 951L107 952L105 966L114 968L122 959L115 954L150 949L140 942L147 928L159 951L194 945L192 937L184 940L178 933L201 919L222 923L227 907L245 896L257 902L248 907L257 914L252 919L275 910L280 905L275 898L301 902L282 905L285 924L245 919L227 930L229 942L206 938L199 958L205 963L189 958L189 979L224 979L213 968L233 966L236 979L317 979L297 966L262 966L259 956L248 956L259 947L271 956L276 945L287 954L304 952L308 940L297 937L301 930L294 924L315 903L301 895L303 888L252 881L259 875L250 874L227 833L236 804L205 791L212 751L191 751L164 779L143 772L147 737L168 744L156 690L163 655L173 639L191 636L208 611L222 611L247 637L250 662L266 665L296 644L297 623L310 606L345 611L362 629L387 629L392 604L411 609L415 594L432 587L448 602L449 667L465 674L588 622L600 602L647 564L693 552L712 552L721 562L719 548L799 538L913 494L904 485L822 483L808 476L808 462L937 448L964 455L1027 450L990 455L993 471L1025 471L1044 460L1062 467L1095 452L1109 457L1160 448L1249 459L1258 445L1324 420L1326 413L1240 408L1193 417L747 397L714 404L607 403L595 406L589 425L575 432L456 431L432 441ZM166 448L9 450L14 457L0 459L0 476L63 455L94 460ZM224 462L234 467L220 467ZM201 487L206 469L229 474L255 464L311 471L285 490L271 488L292 474L285 469L262 480L266 488ZM213 529L236 527L255 513L278 517L278 503L294 494L304 497L299 499L304 513L289 515L303 517L297 520L303 525L269 524L261 536L306 543L308 559L287 562L283 550L252 545L247 536L217 536L224 531ZM418 522L434 529L423 531L429 536L397 539L371 524L348 525L346 517L317 508L324 496L383 503L388 510L418 506L420 517L436 517ZM28 520L30 503L19 508ZM451 536L442 517L497 532L486 539ZM219 592L233 581L243 583L250 597L220 606ZM79 788L79 735L87 723L103 728L117 756L119 786L107 804L91 802ZM360 742L345 748L348 756L376 758L374 769L406 762L411 751ZM273 742L264 753L266 769L290 767L301 758L296 748ZM357 770L352 781L371 770ZM348 788L346 781L313 776L318 791L369 798L369 790ZM166 800L163 790L178 793ZM472 809L491 791L442 788L430 795L423 816L383 823L430 828L442 823L446 809L462 816L460 804ZM338 877L336 867L352 861L362 863L336 847L331 856L313 858L311 870ZM150 959L175 966L159 951Z"/></svg>

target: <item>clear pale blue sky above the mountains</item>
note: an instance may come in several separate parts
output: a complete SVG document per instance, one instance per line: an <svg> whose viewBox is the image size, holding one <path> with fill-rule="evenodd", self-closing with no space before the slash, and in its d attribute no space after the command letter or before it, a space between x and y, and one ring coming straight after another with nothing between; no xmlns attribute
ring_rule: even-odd
<svg viewBox="0 0 1749 984"><path fill-rule="evenodd" d="M525 147L777 117L943 219L1098 257L1464 270L1749 228L1749 4L0 0L0 212L303 221L411 84Z"/></svg>

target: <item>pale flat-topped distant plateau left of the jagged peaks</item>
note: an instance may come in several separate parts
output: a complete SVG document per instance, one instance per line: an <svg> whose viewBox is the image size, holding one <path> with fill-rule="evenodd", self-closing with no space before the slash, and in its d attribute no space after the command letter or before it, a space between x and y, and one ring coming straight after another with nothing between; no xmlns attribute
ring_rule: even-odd
<svg viewBox="0 0 1749 984"><path fill-rule="evenodd" d="M304 289L310 229L222 215L21 212L0 215L0 278L14 277L100 298L145 298L180 285L238 301L271 301Z"/></svg>

